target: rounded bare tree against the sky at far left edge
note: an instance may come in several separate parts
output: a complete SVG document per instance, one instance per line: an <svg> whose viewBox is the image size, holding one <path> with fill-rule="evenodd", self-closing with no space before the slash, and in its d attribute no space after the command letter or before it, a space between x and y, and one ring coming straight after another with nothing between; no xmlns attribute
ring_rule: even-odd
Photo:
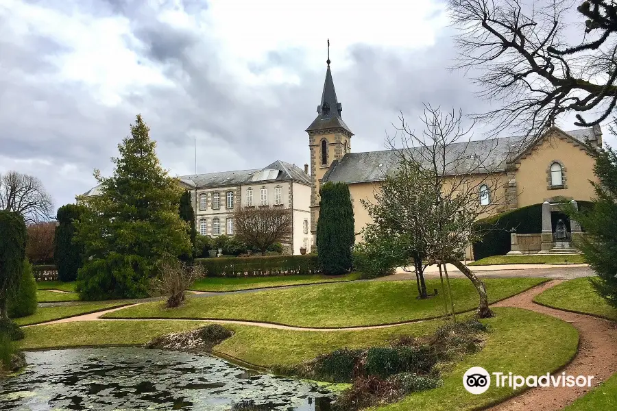
<svg viewBox="0 0 617 411"><path fill-rule="evenodd" d="M19 212L26 223L51 218L53 201L40 179L9 171L0 175L0 210Z"/></svg>

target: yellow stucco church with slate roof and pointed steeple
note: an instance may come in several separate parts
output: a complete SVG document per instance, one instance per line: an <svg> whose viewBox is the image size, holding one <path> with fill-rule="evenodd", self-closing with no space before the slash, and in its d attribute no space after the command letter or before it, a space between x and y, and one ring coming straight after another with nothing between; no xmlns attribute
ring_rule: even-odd
<svg viewBox="0 0 617 411"><path fill-rule="evenodd" d="M360 233L370 222L370 216L360 199L374 201L374 190L383 181L383 171L396 167L393 151L352 152L354 136L342 118L342 105L337 99L330 60L317 117L306 128L311 152L311 234L316 242L319 216L319 187L325 182L348 184L354 208L355 232ZM599 126L569 132L553 127L531 146L513 149L520 142L517 137L492 138L464 142L465 150L489 152L494 186L487 187L490 195L479 195L478 201L493 201L493 212L504 212L523 206L553 202L555 199L590 201L594 191L590 181L597 181L593 173L594 159L585 150L589 142L602 147ZM458 144L458 143L457 143ZM470 147L469 145L477 145ZM524 146L522 146L524 147ZM453 147L452 151L456 151ZM481 203L483 204L483 203ZM356 240L359 238L356 236Z"/></svg>

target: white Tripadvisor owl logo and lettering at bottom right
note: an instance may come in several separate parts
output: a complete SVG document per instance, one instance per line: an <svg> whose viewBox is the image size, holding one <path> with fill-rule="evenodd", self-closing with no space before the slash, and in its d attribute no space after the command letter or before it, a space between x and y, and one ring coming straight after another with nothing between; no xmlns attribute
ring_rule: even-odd
<svg viewBox="0 0 617 411"><path fill-rule="evenodd" d="M472 394L482 394L489 389L491 385L491 375L495 377L496 387L510 387L512 390L527 387L590 387L594 375L514 375L513 373L489 373L481 366L472 366L463 375L463 386Z"/></svg>

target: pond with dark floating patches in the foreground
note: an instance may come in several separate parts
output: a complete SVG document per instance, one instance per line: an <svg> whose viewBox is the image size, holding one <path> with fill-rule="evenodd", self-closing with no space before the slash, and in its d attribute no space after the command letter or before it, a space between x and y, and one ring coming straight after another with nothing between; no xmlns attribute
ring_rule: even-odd
<svg viewBox="0 0 617 411"><path fill-rule="evenodd" d="M306 382L254 373L212 356L134 347L26 353L0 380L0 410L330 410Z"/></svg>

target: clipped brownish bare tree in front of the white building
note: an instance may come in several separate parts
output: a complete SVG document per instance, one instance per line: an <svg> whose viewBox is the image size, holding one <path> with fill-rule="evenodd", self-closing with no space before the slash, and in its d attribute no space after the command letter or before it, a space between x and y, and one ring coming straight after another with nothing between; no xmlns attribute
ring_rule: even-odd
<svg viewBox="0 0 617 411"><path fill-rule="evenodd" d="M282 207L239 207L234 212L234 236L265 256L275 242L285 242L292 233L291 210Z"/></svg>

